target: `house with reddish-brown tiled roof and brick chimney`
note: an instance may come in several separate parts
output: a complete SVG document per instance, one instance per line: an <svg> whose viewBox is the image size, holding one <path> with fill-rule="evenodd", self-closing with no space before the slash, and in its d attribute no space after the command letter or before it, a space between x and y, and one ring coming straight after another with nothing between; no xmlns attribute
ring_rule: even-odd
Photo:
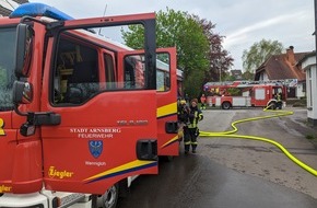
<svg viewBox="0 0 317 208"><path fill-rule="evenodd" d="M296 79L297 84L287 89L287 97L306 96L306 74L301 66L296 65L308 53L294 53L290 46L285 54L270 56L255 73L255 80L285 80Z"/></svg>

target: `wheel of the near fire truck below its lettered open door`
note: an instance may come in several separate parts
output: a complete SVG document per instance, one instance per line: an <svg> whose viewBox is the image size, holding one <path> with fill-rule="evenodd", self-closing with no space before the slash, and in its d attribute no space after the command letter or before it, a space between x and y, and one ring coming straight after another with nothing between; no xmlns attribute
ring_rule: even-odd
<svg viewBox="0 0 317 208"><path fill-rule="evenodd" d="M115 208L119 198L119 185L109 187L104 195L97 198L98 208Z"/></svg>

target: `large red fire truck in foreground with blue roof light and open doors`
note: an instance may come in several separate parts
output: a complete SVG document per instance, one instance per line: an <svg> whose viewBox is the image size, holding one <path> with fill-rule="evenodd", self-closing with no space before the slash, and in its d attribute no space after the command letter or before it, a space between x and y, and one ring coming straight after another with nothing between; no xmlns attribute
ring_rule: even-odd
<svg viewBox="0 0 317 208"><path fill-rule="evenodd" d="M0 25L0 207L115 207L178 154L176 51L155 51L154 13L73 20L25 3ZM95 32L126 25L143 49Z"/></svg>

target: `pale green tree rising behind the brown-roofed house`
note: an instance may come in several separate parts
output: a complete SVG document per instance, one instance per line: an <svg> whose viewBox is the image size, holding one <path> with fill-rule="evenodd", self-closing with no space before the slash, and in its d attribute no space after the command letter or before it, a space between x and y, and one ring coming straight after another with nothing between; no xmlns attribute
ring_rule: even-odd
<svg viewBox="0 0 317 208"><path fill-rule="evenodd" d="M254 73L270 56L282 54L283 48L283 45L278 41L256 42L248 50L243 51L244 69Z"/></svg>

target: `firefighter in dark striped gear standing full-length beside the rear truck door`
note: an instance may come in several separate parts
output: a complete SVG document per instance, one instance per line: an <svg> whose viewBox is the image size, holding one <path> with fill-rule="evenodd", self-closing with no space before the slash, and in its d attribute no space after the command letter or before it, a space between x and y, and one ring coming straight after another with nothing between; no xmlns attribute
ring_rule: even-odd
<svg viewBox="0 0 317 208"><path fill-rule="evenodd" d="M190 146L192 153L196 153L197 148L197 137L199 136L198 122L203 119L203 115L201 111L197 106L198 100L192 99L190 101L189 114L188 114L188 123L184 127L184 146L185 146L185 154L188 154Z"/></svg>

